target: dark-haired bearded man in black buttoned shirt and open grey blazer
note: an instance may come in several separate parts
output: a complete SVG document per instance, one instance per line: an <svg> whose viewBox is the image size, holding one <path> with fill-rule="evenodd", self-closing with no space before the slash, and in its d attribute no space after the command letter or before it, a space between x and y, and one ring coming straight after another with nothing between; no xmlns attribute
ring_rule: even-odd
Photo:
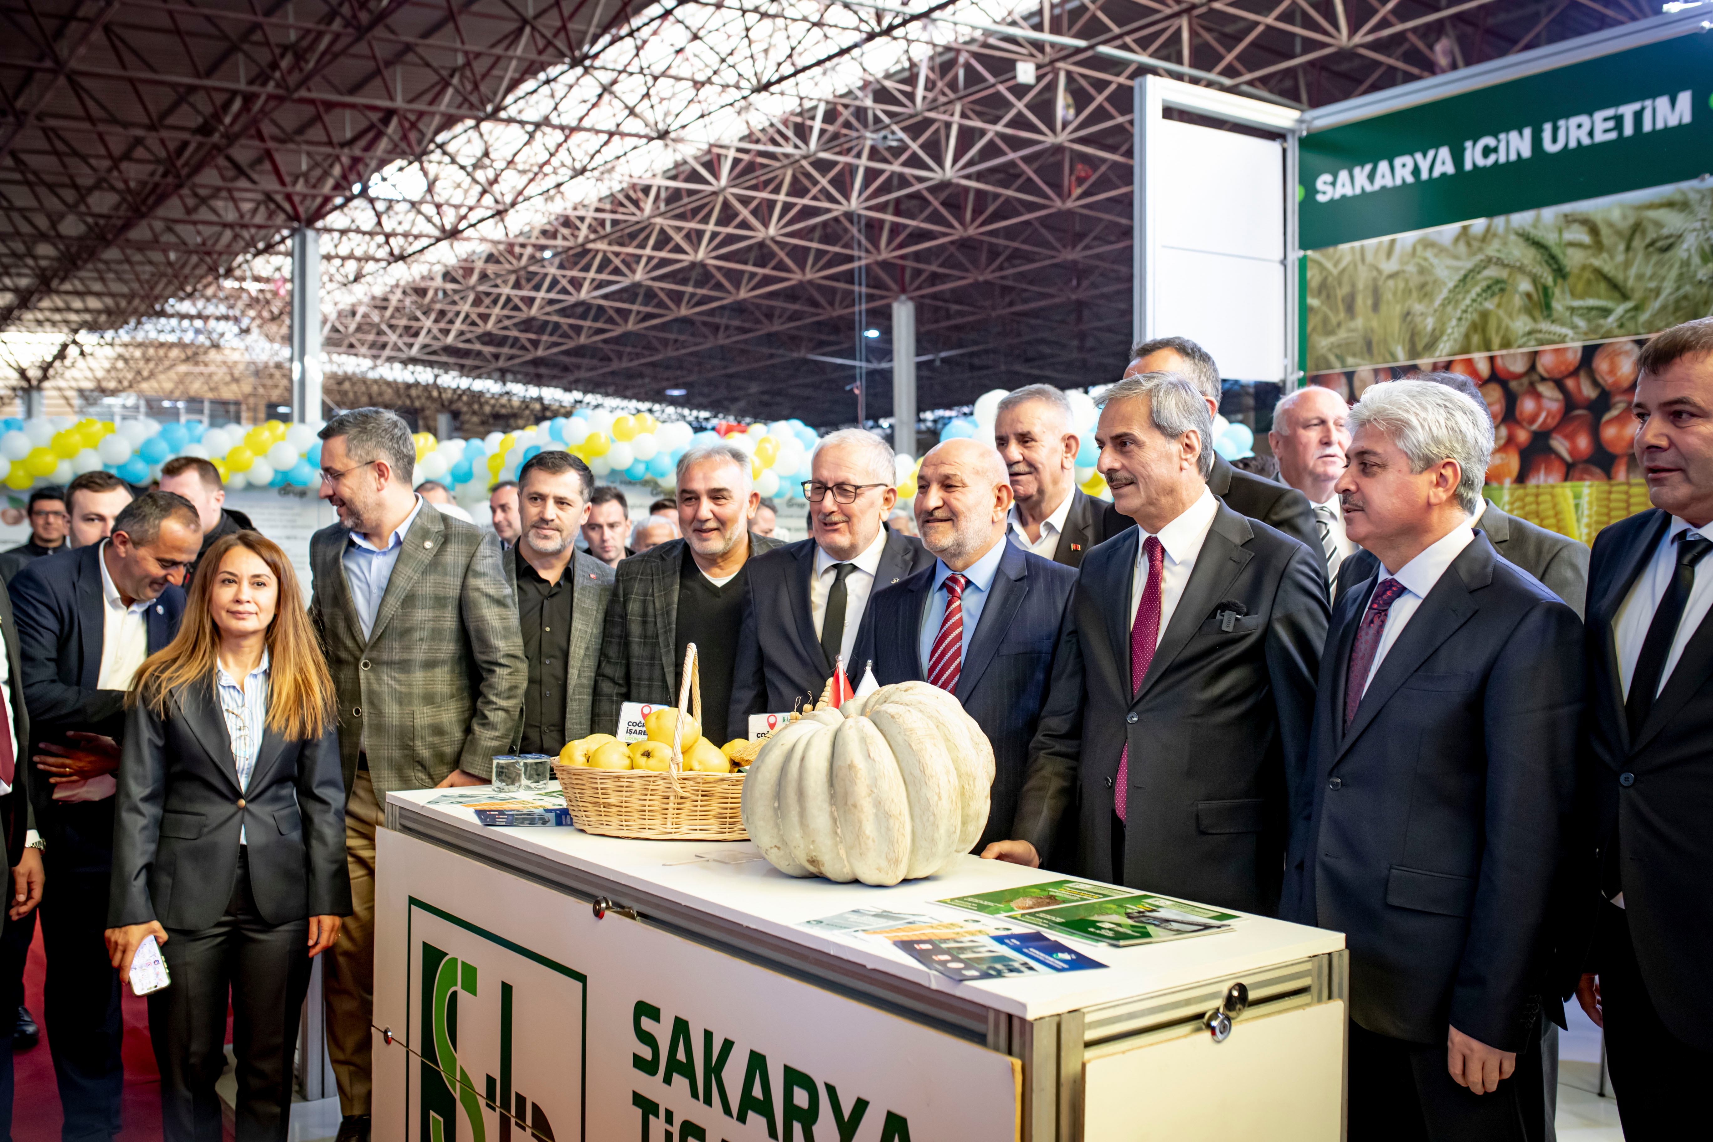
<svg viewBox="0 0 1713 1142"><path fill-rule="evenodd" d="M591 726L589 707L613 568L574 546L593 490L594 476L570 452L538 452L517 473L519 532L505 577L529 661L521 753L558 753L567 741L610 733Z"/></svg>

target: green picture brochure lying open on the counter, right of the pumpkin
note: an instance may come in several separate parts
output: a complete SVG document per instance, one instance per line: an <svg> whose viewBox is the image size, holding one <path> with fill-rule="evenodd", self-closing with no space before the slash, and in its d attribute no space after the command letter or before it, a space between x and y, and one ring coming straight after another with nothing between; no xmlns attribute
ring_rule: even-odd
<svg viewBox="0 0 1713 1142"><path fill-rule="evenodd" d="M1237 913L1093 880L1047 880L937 902L1113 947L1216 935L1232 931L1240 919Z"/></svg>

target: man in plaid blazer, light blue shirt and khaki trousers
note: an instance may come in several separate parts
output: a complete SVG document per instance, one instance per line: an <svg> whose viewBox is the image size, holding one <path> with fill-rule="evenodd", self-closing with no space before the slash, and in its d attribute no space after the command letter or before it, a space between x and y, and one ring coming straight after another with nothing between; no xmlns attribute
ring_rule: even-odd
<svg viewBox="0 0 1713 1142"><path fill-rule="evenodd" d="M320 438L320 495L339 522L310 538L310 620L339 695L353 906L325 966L327 1053L349 1142L368 1139L382 803L392 789L486 782L529 671L500 541L411 490L409 426L351 409Z"/></svg>

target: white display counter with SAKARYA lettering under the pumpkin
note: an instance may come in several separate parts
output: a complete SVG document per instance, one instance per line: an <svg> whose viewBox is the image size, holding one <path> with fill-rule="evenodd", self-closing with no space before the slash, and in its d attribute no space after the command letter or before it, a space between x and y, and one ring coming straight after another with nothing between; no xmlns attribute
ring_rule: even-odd
<svg viewBox="0 0 1713 1142"><path fill-rule="evenodd" d="M1105 969L954 981L798 925L956 914L934 901L1052 873L971 856L891 889L795 880L740 859L749 842L490 829L437 793L389 794L379 837L375 1139L1343 1133L1338 933L1256 916L1074 942ZM1237 983L1247 1008L1215 1041L1204 1019Z"/></svg>

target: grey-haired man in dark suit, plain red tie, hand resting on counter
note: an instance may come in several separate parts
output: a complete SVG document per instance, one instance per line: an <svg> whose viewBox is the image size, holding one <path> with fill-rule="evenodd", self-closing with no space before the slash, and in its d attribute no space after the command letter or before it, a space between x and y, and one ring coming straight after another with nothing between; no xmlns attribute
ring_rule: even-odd
<svg viewBox="0 0 1713 1142"><path fill-rule="evenodd" d="M1076 812L1076 875L1271 914L1328 601L1314 551L1208 490L1211 431L1184 377L1107 389L1100 471L1136 527L1083 560L1011 839L983 856L1038 865Z"/></svg>

